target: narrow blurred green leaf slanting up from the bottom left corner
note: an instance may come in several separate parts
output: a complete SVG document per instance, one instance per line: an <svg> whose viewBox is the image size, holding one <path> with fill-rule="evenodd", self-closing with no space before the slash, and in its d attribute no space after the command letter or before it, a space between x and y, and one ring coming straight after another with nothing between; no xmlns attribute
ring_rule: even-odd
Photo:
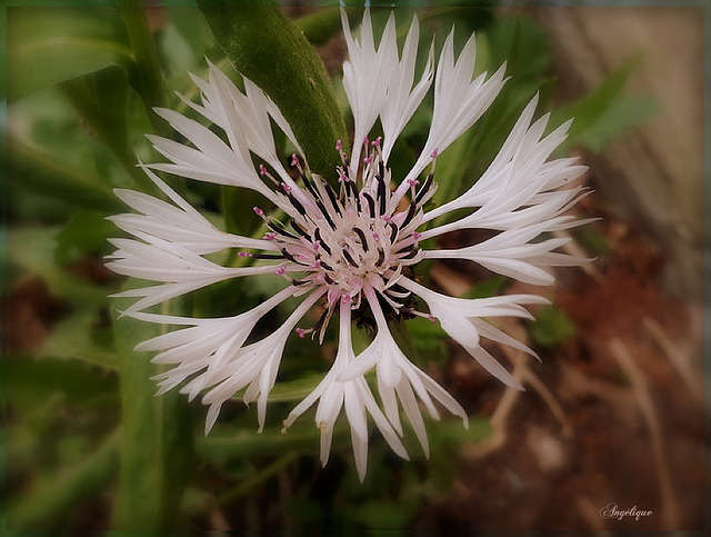
<svg viewBox="0 0 711 537"><path fill-rule="evenodd" d="M83 499L104 490L116 475L119 435L112 434L76 468L41 484L29 497L8 511L10 529L58 529L60 523Z"/></svg>

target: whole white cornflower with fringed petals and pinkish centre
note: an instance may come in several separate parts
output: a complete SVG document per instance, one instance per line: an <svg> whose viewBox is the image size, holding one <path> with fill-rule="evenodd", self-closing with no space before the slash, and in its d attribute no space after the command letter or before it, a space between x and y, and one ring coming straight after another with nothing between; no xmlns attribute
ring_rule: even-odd
<svg viewBox="0 0 711 537"><path fill-rule="evenodd" d="M241 390L246 402L258 401L261 430L269 392L291 334L319 335L322 339L329 321L338 316L339 344L331 370L297 405L284 426L317 405L321 459L326 464L334 422L344 409L362 479L368 457L368 416L392 449L404 458L408 455L400 440L401 410L425 453L429 447L421 408L438 419L439 404L467 425L467 414L454 398L400 350L390 332L389 319L400 321L422 316L439 321L487 370L515 388L521 387L480 346L480 337L533 354L484 319L530 317L524 306L544 299L532 295L473 300L448 297L422 286L413 266L422 259L467 259L523 282L552 284L548 268L577 265L581 260L554 251L568 239L541 239L541 235L580 223L565 216L565 211L584 193L580 187L561 187L577 179L584 167L574 166L574 159L548 160L565 138L568 123L543 136L548 116L533 122L534 98L483 176L459 198L428 210L428 201L437 189L438 155L491 105L505 82L504 67L490 77L483 73L473 78L474 37L455 57L452 31L437 68L432 67L430 52L423 73L415 81L417 19L402 52L395 41L393 16L378 48L368 10L360 40L351 36L344 14L343 31L349 51L343 86L353 112L356 142L350 158L341 141L336 143L341 166L332 177L324 179L309 170L284 117L257 86L244 79L242 92L210 64L209 80L193 77L201 90L201 103L184 100L219 128L223 137L178 112L157 110L190 145L150 137L169 162L141 167L170 202L141 192L117 191L139 213L111 218L134 239L114 239L118 249L107 265L121 275L159 282L119 296L140 297L126 315L147 322L184 327L143 341L137 350L158 351L154 362L173 366L158 376L160 392L182 385L180 391L190 399L202 394L202 401L209 405L206 434L214 425L222 404ZM390 152L432 81L434 108L424 148L407 177L392 177L388 168ZM369 141L367 136L378 120L383 136ZM272 122L298 148L291 162L299 173L297 180L281 163ZM258 168L252 163L252 153L262 161ZM218 230L153 170L261 193L266 205L256 207L254 212L263 220L266 235L256 239ZM286 218L269 216L272 208ZM465 216L433 225L434 218L461 209L468 210L463 212ZM485 229L492 236L458 249L435 246L425 249L424 240L459 229ZM250 258L251 263L222 267L203 257L230 248ZM236 317L193 319L142 312L218 281L260 275L281 276L283 288ZM302 300L283 325L266 338L247 344L257 322L292 297ZM311 309L320 311L316 325L298 326ZM351 320L365 315L374 319L375 335L370 346L356 355ZM365 379L371 370L375 377L373 386Z"/></svg>

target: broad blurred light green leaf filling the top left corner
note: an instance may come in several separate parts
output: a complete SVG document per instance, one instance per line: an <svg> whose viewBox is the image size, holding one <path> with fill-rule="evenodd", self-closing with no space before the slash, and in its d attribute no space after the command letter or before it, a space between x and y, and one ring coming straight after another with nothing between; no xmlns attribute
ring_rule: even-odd
<svg viewBox="0 0 711 537"><path fill-rule="evenodd" d="M9 8L9 101L129 60L117 14L101 8Z"/></svg>

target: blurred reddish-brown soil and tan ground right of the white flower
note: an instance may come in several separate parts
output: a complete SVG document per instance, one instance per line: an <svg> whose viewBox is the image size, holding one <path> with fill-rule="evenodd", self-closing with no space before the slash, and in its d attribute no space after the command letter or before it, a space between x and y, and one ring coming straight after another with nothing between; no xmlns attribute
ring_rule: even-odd
<svg viewBox="0 0 711 537"><path fill-rule="evenodd" d="M595 193L579 210L601 218L593 227L610 255L561 271L550 292L577 336L542 364L509 352L524 392L502 390L455 354L447 379L458 395L474 394L470 409L491 416L494 432L465 447L452 490L419 527L701 529L703 10L514 11L550 38L559 103L639 57L625 91L653 97L659 112L602 155L581 153ZM450 290L458 278L467 285L464 274L440 276ZM652 514L605 518L610 504Z"/></svg>

